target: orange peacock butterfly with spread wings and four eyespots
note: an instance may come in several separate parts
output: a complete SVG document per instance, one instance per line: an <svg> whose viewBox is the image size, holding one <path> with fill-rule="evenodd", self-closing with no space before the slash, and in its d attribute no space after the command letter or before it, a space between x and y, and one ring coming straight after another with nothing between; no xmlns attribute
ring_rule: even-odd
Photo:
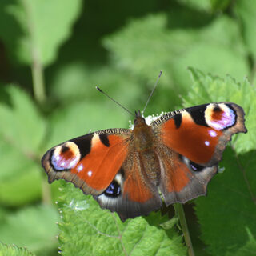
<svg viewBox="0 0 256 256"><path fill-rule="evenodd" d="M246 133L244 111L230 102L175 110L146 124L135 112L134 129L107 129L70 139L46 152L49 182L65 179L124 222L152 210L206 195L222 152ZM163 199L163 200L162 200Z"/></svg>

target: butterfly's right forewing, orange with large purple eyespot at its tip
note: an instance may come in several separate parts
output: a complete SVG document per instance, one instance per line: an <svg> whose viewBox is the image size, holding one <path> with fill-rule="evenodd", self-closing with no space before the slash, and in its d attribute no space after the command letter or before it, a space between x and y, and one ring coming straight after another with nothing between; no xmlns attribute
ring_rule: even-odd
<svg viewBox="0 0 256 256"><path fill-rule="evenodd" d="M246 132L242 108L229 102L171 112L151 126L164 145L202 166L217 164L231 135Z"/></svg>

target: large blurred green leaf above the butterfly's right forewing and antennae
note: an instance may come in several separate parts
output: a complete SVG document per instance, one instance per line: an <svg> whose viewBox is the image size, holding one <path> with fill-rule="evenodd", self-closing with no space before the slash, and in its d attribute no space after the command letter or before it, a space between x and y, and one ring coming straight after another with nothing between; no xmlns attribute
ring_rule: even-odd
<svg viewBox="0 0 256 256"><path fill-rule="evenodd" d="M249 74L246 49L233 19L222 15L208 26L171 30L168 18L158 14L136 19L105 38L114 63L149 81L154 81L155 70L163 70L161 84L172 87L174 95L190 88L187 66L240 79Z"/></svg>

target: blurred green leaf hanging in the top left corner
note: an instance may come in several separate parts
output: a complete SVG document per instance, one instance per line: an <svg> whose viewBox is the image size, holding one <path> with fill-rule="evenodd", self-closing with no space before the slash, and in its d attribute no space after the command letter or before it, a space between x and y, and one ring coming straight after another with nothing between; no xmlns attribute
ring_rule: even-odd
<svg viewBox="0 0 256 256"><path fill-rule="evenodd" d="M12 60L30 64L32 58L49 65L58 46L70 36L82 0L2 0L0 35ZM33 55L33 56L32 56Z"/></svg>

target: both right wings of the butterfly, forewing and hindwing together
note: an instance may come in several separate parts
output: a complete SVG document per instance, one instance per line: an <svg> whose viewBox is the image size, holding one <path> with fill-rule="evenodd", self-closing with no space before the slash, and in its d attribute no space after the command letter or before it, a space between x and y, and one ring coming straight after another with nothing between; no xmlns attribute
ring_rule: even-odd
<svg viewBox="0 0 256 256"><path fill-rule="evenodd" d="M233 134L246 133L244 112L234 103L210 103L165 114L151 124L159 136L160 189L166 205L206 194Z"/></svg>

